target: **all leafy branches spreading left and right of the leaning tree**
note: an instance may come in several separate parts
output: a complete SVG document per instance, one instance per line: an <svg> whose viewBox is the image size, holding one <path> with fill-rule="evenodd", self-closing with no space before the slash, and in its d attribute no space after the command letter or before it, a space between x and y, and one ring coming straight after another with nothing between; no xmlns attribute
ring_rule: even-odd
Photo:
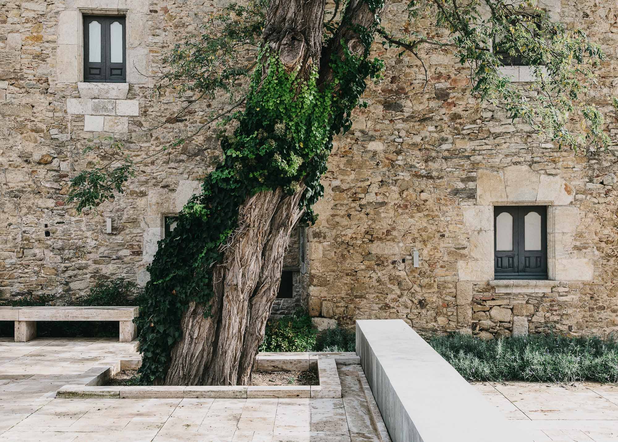
<svg viewBox="0 0 618 442"><path fill-rule="evenodd" d="M232 3L206 17L203 34L188 35L167 54L169 69L160 77L157 89L173 88L180 97L194 97L169 121L176 121L203 98L227 96L233 105L146 159L184 144L211 123L219 121L224 126L240 118L242 112L232 111L244 104L249 79L258 66L268 6L268 0L251 1L246 6ZM345 11L349 11L346 4L337 1L334 10L326 12L325 50L329 41L341 37ZM426 33L428 20L434 22L431 35ZM603 131L603 114L588 100L596 85L595 68L604 60L603 51L584 32L552 21L531 0L412 0L407 4L407 20L376 30L384 46L402 49L399 56L411 53L418 58L426 79L421 48L433 46L451 52L470 68L470 92L476 98L501 108L508 118L528 124L540 136L576 150L596 150L610 144ZM373 41L374 36L368 38ZM530 66L533 81L514 82L508 71L503 73L501 68L508 61L505 55ZM318 83L322 80L320 76ZM120 162L82 171L72 180L69 201L76 201L78 210L97 206L114 193L122 193L135 171L130 155Z"/></svg>

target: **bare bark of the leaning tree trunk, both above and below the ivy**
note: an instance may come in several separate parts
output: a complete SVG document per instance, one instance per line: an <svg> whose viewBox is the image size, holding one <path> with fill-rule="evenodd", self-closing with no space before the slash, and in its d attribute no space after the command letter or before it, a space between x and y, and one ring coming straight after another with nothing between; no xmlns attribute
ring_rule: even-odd
<svg viewBox="0 0 618 442"><path fill-rule="evenodd" d="M307 67L315 66L321 69L320 78L328 81L331 56L344 54L341 42L347 41L353 53L361 53L358 29L370 28L373 33L376 14L383 10L370 11L361 0L350 1L349 7L344 24L323 54L324 0L273 0L263 47L277 52L287 72L298 69L298 77L307 79ZM183 334L172 349L165 384L249 383L279 289L290 232L303 215L300 201L305 188L301 182L292 195L277 188L245 199L239 208L238 227L223 247L222 261L213 269L214 297L208 305L191 303L182 315Z"/></svg>

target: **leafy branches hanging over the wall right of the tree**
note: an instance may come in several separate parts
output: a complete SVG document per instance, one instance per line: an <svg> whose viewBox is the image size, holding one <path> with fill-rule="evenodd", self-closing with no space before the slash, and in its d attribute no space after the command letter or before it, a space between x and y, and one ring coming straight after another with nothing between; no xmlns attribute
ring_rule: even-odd
<svg viewBox="0 0 618 442"><path fill-rule="evenodd" d="M407 10L399 31L379 30L385 45L416 56L421 45L447 48L470 67L472 94L504 109L509 118L521 119L564 147L609 145L603 115L588 103L595 69L605 55L585 32L552 21L530 0L413 0ZM440 38L414 29L420 17L434 17ZM508 70L502 73L505 61L515 57L530 66L533 81L512 81Z"/></svg>

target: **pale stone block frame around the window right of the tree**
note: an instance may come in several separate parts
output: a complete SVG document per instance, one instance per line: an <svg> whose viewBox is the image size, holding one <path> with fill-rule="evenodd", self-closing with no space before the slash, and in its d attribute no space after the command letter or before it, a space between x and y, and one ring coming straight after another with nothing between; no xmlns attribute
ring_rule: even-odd
<svg viewBox="0 0 618 442"><path fill-rule="evenodd" d="M501 292L517 287L521 292L548 292L561 281L592 280L593 259L573 248L580 218L574 199L575 189L559 176L537 173L525 165L478 170L476 204L462 206L470 247L468 259L457 261L459 281L488 282L501 287ZM494 206L520 205L548 206L547 281L494 279Z"/></svg>

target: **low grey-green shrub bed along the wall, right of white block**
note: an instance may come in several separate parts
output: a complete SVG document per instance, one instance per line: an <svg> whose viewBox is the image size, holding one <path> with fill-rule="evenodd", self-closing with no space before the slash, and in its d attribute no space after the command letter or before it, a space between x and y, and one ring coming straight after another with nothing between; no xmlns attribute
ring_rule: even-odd
<svg viewBox="0 0 618 442"><path fill-rule="evenodd" d="M618 382L618 342L612 338L449 334L428 342L468 381Z"/></svg>

